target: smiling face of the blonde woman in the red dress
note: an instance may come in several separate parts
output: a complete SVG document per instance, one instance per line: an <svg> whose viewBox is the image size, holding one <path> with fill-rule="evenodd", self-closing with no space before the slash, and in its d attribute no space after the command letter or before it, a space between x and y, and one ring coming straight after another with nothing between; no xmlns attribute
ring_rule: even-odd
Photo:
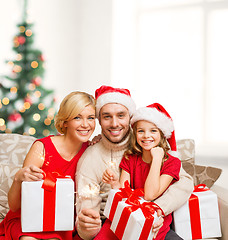
<svg viewBox="0 0 228 240"><path fill-rule="evenodd" d="M64 123L66 135L87 142L95 129L95 109L88 105L74 119Z"/></svg>

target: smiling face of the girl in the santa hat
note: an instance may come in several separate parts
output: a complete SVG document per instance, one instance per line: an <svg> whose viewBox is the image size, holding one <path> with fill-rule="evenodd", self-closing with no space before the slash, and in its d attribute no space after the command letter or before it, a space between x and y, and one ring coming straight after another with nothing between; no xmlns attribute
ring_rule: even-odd
<svg viewBox="0 0 228 240"><path fill-rule="evenodd" d="M161 134L156 125L140 120L136 125L136 140L143 150L150 151L160 143Z"/></svg>

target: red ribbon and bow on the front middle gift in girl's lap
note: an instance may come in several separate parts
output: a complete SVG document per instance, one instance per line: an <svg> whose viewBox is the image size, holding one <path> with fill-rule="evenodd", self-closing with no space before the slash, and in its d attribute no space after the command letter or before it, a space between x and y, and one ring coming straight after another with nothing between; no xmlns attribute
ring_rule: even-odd
<svg viewBox="0 0 228 240"><path fill-rule="evenodd" d="M135 190L136 191L136 190ZM118 222L118 225L115 230L115 235L122 239L128 219L132 212L136 211L137 209L141 208L144 217L146 218L145 223L143 225L139 240L145 240L148 238L150 234L150 230L152 228L153 222L154 222L154 213L156 210L161 208L153 202L143 202L142 204L139 202L139 197L135 194L131 194L126 203L131 205L128 207L125 207L121 216L120 220ZM161 210L162 211L162 210Z"/></svg>

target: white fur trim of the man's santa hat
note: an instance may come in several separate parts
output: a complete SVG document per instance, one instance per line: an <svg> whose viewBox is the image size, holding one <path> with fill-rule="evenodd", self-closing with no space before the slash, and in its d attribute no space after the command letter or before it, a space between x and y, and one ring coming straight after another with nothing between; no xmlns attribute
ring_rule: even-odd
<svg viewBox="0 0 228 240"><path fill-rule="evenodd" d="M99 116L100 109L108 103L119 103L125 106L129 110L129 114L132 115L135 112L136 105L130 96L119 92L104 93L97 99L96 103L96 115Z"/></svg>

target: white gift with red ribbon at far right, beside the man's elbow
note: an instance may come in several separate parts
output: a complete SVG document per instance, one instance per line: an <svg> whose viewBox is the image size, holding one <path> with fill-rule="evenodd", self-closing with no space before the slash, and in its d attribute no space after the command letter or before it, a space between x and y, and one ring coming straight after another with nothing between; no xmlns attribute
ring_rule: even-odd
<svg viewBox="0 0 228 240"><path fill-rule="evenodd" d="M185 240L221 237L217 195L197 185L188 202L174 211L175 232Z"/></svg>

